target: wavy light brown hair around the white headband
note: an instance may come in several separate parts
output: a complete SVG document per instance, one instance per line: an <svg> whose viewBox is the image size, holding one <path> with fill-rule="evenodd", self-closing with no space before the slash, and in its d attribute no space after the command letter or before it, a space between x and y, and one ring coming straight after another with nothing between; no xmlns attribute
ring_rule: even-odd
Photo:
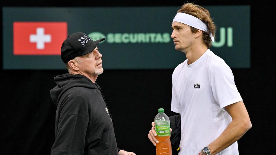
<svg viewBox="0 0 276 155"><path fill-rule="evenodd" d="M212 46L212 40L210 37L210 33L213 34L213 36L215 37L215 32L216 32L216 26L214 25L214 22L212 21L212 18L210 17L210 13L207 9L198 6L196 4L193 3L184 3L181 8L177 11L178 12L182 12L182 13L186 13L189 15L192 15L198 19L200 19L201 21L203 21L204 24L206 24L209 32L205 32L202 31L202 41L204 42L204 44L206 44L207 48L210 48ZM193 28L191 27L191 31L192 33L196 33L198 31L197 28Z"/></svg>

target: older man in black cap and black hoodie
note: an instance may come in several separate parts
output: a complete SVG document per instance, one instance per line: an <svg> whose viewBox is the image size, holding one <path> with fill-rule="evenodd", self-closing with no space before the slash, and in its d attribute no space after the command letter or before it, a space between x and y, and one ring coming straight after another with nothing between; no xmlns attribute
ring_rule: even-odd
<svg viewBox="0 0 276 155"><path fill-rule="evenodd" d="M112 116L100 86L103 73L99 39L74 33L64 40L61 59L69 73L54 78L51 97L57 106L52 155L135 155L117 148Z"/></svg>

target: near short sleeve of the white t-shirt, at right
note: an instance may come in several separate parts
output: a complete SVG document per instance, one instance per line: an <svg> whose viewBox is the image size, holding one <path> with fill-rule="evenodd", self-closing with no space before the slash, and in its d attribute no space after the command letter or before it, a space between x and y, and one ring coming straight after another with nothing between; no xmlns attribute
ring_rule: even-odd
<svg viewBox="0 0 276 155"><path fill-rule="evenodd" d="M223 61L216 61L209 66L209 82L216 102L222 110L227 105L242 101L234 82L230 67Z"/></svg>

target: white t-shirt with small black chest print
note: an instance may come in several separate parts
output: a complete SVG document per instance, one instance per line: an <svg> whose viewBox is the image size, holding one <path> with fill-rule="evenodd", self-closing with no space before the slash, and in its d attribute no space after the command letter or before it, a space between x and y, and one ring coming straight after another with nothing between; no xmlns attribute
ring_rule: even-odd
<svg viewBox="0 0 276 155"><path fill-rule="evenodd" d="M242 101L230 67L209 49L194 63L179 64L172 75L171 111L181 114L179 155L198 155L232 121L224 107ZM235 142L218 155L238 155Z"/></svg>

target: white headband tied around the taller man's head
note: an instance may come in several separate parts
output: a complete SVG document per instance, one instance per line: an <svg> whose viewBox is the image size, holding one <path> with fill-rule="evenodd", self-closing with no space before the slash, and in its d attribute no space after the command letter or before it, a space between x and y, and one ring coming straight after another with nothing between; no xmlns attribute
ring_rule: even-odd
<svg viewBox="0 0 276 155"><path fill-rule="evenodd" d="M197 28L205 32L209 32L207 26L203 23L203 21L186 13L178 12L173 19L173 22L175 21L189 25L191 27ZM214 36L212 33L210 33L210 37L212 39L212 42L214 42Z"/></svg>

